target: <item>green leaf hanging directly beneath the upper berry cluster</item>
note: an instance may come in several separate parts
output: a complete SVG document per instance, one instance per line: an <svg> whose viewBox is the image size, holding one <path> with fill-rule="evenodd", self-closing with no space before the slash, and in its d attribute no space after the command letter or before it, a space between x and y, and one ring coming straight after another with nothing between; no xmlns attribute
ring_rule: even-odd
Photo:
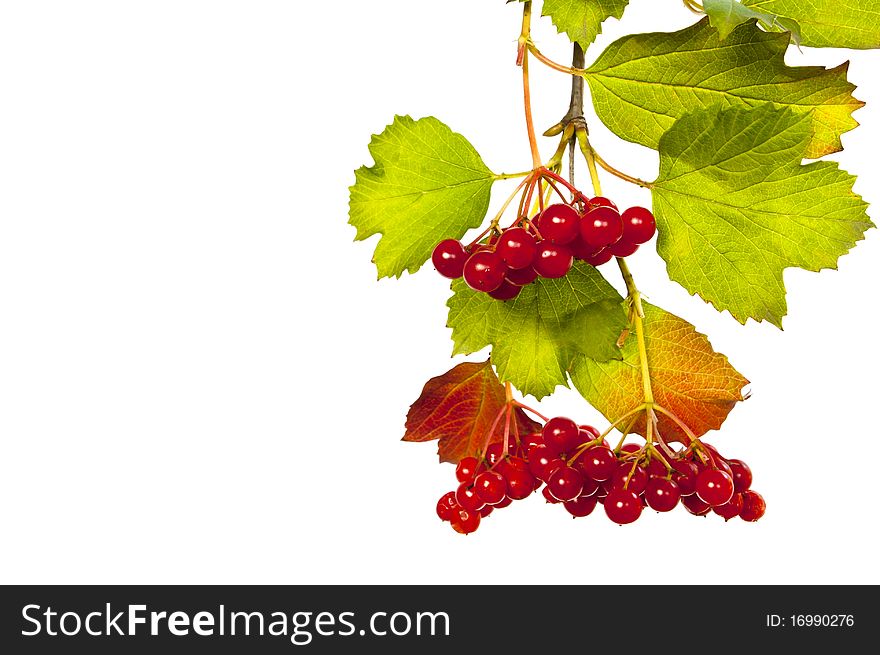
<svg viewBox="0 0 880 655"><path fill-rule="evenodd" d="M449 322L453 354L492 346L503 382L542 398L558 385L578 354L600 361L619 357L615 346L626 327L622 298L595 268L576 263L562 279L539 279L514 300L501 302L452 283Z"/></svg>

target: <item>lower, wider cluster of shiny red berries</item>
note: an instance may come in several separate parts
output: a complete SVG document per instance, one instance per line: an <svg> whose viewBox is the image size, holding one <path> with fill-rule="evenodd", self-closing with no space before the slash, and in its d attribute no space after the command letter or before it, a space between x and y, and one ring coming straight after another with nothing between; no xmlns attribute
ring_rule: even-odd
<svg viewBox="0 0 880 655"><path fill-rule="evenodd" d="M539 434L510 444L504 453L493 443L482 460L462 459L456 467L458 488L437 502L437 515L456 532L474 532L496 509L522 500L543 486L548 503L573 517L588 516L601 503L609 519L632 523L644 507L669 512L679 502L691 514L710 511L725 521L739 516L757 521L764 499L750 489L752 473L738 459L725 459L714 447L685 449L674 457L625 444L611 450L598 430L568 418L552 418ZM669 465L669 468L667 467Z"/></svg>

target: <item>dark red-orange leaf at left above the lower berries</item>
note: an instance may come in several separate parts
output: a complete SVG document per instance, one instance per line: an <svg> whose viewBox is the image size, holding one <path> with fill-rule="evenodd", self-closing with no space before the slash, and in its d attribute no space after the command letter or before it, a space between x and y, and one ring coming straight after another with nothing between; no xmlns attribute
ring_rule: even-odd
<svg viewBox="0 0 880 655"><path fill-rule="evenodd" d="M457 463L464 457L479 455L490 436L492 424L499 412L504 410L506 402L504 386L492 370L491 362L459 364L425 384L422 395L406 415L403 440L438 439L441 462ZM513 415L520 435L540 430L541 426L521 409L515 409ZM503 439L502 417L489 443Z"/></svg>

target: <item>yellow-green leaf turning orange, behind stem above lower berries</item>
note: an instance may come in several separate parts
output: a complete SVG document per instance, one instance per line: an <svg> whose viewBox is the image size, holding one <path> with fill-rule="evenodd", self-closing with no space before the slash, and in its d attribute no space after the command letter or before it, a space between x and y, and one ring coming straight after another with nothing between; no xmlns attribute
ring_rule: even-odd
<svg viewBox="0 0 880 655"><path fill-rule="evenodd" d="M654 401L681 419L696 436L717 430L749 383L727 357L715 352L693 325L659 307L645 304L645 341ZM631 334L623 346L623 361L599 363L582 358L571 370L575 387L609 421L642 403L638 344ZM669 441L686 441L667 416L659 415L660 434ZM641 415L633 428L645 434Z"/></svg>

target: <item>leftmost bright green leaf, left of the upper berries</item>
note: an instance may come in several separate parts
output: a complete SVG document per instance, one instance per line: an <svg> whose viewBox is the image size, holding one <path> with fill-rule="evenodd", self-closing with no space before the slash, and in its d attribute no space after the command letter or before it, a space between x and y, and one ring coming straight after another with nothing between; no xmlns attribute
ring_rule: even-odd
<svg viewBox="0 0 880 655"><path fill-rule="evenodd" d="M436 118L395 116L369 149L375 165L355 171L349 223L355 240L383 235L373 256L380 278L415 273L438 242L483 222L496 176Z"/></svg>

